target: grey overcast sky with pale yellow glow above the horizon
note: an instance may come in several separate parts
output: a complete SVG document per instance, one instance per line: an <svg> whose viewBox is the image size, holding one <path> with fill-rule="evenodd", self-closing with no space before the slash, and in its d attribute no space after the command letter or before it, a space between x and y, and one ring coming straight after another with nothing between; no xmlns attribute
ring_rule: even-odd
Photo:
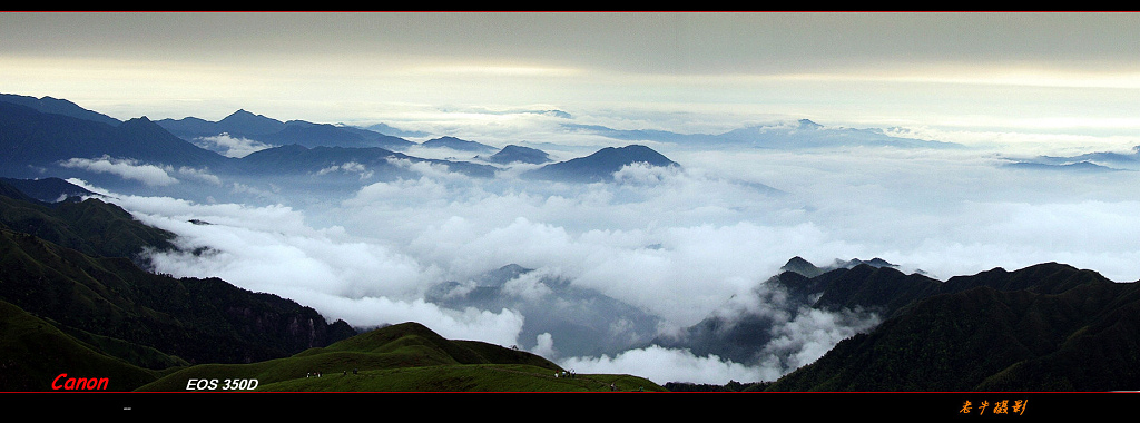
<svg viewBox="0 0 1140 423"><path fill-rule="evenodd" d="M1134 131L1140 15L5 14L0 91L120 119L440 109ZM424 113L414 115L415 113ZM689 128L703 130L689 122Z"/></svg>

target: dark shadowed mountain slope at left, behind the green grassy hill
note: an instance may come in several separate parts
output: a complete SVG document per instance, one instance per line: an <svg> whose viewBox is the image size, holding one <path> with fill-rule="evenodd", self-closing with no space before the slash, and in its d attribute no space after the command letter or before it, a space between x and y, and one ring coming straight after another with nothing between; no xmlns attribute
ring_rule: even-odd
<svg viewBox="0 0 1140 423"><path fill-rule="evenodd" d="M172 235L115 205L92 198L49 208L0 197L0 300L137 366L250 363L356 334L276 295L145 271L127 255L172 247Z"/></svg>

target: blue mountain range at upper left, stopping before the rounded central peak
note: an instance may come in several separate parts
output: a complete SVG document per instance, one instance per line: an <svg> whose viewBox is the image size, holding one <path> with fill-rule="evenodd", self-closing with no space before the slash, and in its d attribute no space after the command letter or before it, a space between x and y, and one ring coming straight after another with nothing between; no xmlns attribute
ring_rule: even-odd
<svg viewBox="0 0 1140 423"><path fill-rule="evenodd" d="M108 125L90 120L62 114L43 113L14 103L0 101L0 174L33 179L42 174L56 177L80 177L88 180L92 173L82 166L65 168L72 158L127 161L135 165L168 166L178 170L205 169L213 174L242 174L254 172L307 173L356 162L372 166L383 173L382 178L406 176L406 169L389 163L389 158L413 162L431 162L447 165L451 171L477 177L492 177L496 168L456 161L425 160L365 145L391 144L406 147L413 145L396 137L383 136L363 129L342 128L329 124L314 124L303 121L279 122L238 111L219 122L197 119L162 121L168 128L180 131L182 137L230 133L231 136L256 135L270 143L304 141L308 145L286 145L262 149L242 158L226 157L202 148L168 131L146 116L132 119L117 125ZM369 133L374 138L366 138ZM319 146L319 144L345 144L352 147ZM400 173L404 172L404 173ZM103 177L103 182L113 184L119 176ZM192 189L192 188L186 188Z"/></svg>

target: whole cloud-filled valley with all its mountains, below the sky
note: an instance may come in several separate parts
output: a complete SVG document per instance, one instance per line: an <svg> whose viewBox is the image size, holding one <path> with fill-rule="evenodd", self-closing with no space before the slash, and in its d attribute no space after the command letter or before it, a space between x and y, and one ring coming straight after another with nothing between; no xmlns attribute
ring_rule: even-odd
<svg viewBox="0 0 1140 423"><path fill-rule="evenodd" d="M234 364L270 391L463 390L302 380L410 342L435 352L409 368L561 383L467 390L1140 388L1140 147L518 114L488 140L0 96L0 383L182 391L163 372Z"/></svg>

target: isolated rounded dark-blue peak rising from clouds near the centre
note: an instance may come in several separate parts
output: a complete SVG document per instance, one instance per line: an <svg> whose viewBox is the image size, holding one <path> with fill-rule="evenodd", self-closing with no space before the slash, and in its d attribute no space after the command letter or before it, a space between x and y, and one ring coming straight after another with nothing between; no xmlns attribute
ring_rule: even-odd
<svg viewBox="0 0 1140 423"><path fill-rule="evenodd" d="M646 163L653 166L679 166L676 162L650 147L629 145L625 147L605 147L585 157L551 163L527 171L523 173L523 177L578 182L609 181L613 179L613 172L634 163Z"/></svg>

